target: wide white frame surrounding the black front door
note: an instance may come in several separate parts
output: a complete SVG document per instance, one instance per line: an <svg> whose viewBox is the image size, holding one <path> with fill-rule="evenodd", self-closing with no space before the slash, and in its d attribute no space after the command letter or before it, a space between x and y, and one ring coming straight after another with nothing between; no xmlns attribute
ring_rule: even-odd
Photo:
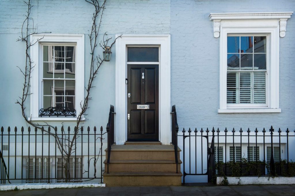
<svg viewBox="0 0 295 196"><path fill-rule="evenodd" d="M116 35L116 38L120 35ZM160 46L159 68L159 140L164 145L171 143L171 65L170 35L122 35L116 41L115 75L115 142L127 141L127 64L128 45Z"/></svg>

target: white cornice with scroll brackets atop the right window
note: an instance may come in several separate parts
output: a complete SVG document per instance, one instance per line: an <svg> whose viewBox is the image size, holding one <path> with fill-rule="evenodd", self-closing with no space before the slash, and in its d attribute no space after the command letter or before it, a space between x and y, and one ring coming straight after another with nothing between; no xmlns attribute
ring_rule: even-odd
<svg viewBox="0 0 295 196"><path fill-rule="evenodd" d="M286 35L287 20L291 18L293 11L281 12L222 12L210 13L209 18L213 21L214 37L219 37L220 22L224 20L278 20L280 24L280 37Z"/></svg>

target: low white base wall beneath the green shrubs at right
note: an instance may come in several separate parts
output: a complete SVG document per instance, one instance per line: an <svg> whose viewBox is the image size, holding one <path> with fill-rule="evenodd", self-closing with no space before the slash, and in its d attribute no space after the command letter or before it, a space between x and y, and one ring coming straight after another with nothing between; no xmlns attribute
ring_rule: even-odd
<svg viewBox="0 0 295 196"><path fill-rule="evenodd" d="M217 177L216 184L223 185L224 177ZM229 185L292 185L295 177L227 177Z"/></svg>

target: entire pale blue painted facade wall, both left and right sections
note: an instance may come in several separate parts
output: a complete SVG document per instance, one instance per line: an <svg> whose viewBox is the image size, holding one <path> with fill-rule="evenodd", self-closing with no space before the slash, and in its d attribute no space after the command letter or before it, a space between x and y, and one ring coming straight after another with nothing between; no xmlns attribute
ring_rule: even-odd
<svg viewBox="0 0 295 196"><path fill-rule="evenodd" d="M83 0L31 1L31 16L38 31L87 34L91 27L91 5ZM286 37L280 38L281 113L218 114L219 38L213 37L211 12L293 11L293 1L152 1L110 0L106 4L101 33L171 34L171 105L176 104L180 127L276 128L295 127L295 20L287 21ZM0 1L1 125L24 125L19 106L22 75L16 66L24 62L24 45L15 42L27 10L21 1ZM85 81L89 73L89 40L85 36ZM93 100L85 125L105 127L109 104L114 104L115 51L112 61L100 68L91 92ZM17 58L15 58L17 57ZM28 103L30 101L28 100ZM27 105L27 113L29 113ZM58 122L60 123L60 122ZM68 123L67 123L68 124Z"/></svg>

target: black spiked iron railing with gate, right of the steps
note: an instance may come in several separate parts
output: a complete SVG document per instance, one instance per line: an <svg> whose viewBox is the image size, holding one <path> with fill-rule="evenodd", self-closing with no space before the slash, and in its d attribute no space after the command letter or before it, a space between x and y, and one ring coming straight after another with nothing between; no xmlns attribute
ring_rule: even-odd
<svg viewBox="0 0 295 196"><path fill-rule="evenodd" d="M290 135L288 128L284 135L280 128L275 131L273 126L269 132L265 128L254 131L248 128L245 132L240 128L239 134L234 128L231 134L227 128L222 134L214 127L205 131L201 128L199 133L197 129L193 133L190 128L188 131L183 128L182 132L178 137L183 140L183 146L180 146L183 150L183 183L186 175L208 175L208 182L216 175L295 175L295 163L289 159L289 141L295 135ZM209 139L212 140L210 147Z"/></svg>

